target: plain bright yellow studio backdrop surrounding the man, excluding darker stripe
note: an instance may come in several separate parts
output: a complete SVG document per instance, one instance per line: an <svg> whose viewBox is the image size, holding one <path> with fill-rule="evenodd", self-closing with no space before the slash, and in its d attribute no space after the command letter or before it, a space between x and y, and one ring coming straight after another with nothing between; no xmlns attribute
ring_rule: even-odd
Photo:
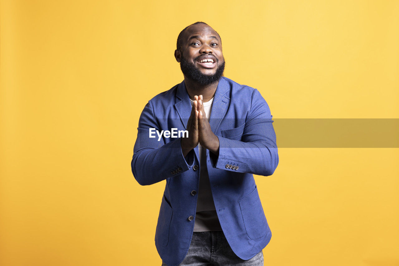
<svg viewBox="0 0 399 266"><path fill-rule="evenodd" d="M0 265L160 265L139 115L198 20L275 118L399 118L399 1L1 1ZM278 141L277 136L277 141ZM280 149L265 265L399 265L398 149Z"/></svg>

